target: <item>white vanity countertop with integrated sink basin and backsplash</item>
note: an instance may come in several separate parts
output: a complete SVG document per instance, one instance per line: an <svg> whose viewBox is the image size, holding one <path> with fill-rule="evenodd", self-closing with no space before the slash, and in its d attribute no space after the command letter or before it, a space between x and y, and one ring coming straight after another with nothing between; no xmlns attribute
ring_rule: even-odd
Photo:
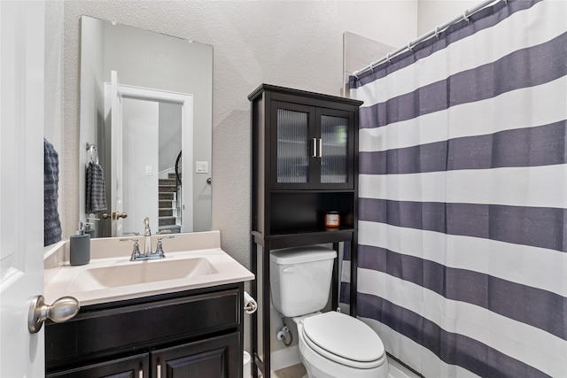
<svg viewBox="0 0 567 378"><path fill-rule="evenodd" d="M155 249L155 237L153 241ZM140 237L140 244L144 245L144 237ZM166 258L129 261L131 242L93 239L90 262L84 266L70 266L68 243L58 244L44 258L46 303L71 296L81 305L95 305L254 279L248 269L222 251L218 231L176 234L163 244ZM186 274L186 268L190 273ZM125 284L120 283L122 279Z"/></svg>

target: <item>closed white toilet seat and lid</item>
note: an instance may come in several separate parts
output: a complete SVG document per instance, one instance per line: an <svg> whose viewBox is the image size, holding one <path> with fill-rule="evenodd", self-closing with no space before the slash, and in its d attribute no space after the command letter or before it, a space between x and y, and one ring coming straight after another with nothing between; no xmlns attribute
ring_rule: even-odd
<svg viewBox="0 0 567 378"><path fill-rule="evenodd" d="M341 365L370 369L384 364L384 343L361 320L340 312L324 312L303 320L307 345Z"/></svg>

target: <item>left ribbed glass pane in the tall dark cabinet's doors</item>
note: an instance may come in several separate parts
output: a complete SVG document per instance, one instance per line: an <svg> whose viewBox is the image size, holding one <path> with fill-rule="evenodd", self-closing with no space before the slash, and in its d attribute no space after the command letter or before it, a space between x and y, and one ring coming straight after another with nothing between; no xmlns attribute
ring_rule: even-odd
<svg viewBox="0 0 567 378"><path fill-rule="evenodd" d="M276 111L277 183L309 182L309 113L278 107Z"/></svg>

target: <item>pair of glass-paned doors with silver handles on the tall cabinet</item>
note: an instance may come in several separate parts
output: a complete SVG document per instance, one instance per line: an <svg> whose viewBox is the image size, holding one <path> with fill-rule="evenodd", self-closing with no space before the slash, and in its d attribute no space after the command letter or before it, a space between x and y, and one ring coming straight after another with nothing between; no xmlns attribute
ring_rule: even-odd
<svg viewBox="0 0 567 378"><path fill-rule="evenodd" d="M352 189L353 113L272 102L272 189Z"/></svg>

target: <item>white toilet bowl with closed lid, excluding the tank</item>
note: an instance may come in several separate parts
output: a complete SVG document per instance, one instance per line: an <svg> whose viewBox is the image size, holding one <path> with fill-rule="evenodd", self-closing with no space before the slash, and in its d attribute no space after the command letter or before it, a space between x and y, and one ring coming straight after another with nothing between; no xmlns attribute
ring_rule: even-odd
<svg viewBox="0 0 567 378"><path fill-rule="evenodd" d="M384 343L361 320L340 312L293 318L308 378L386 378Z"/></svg>

